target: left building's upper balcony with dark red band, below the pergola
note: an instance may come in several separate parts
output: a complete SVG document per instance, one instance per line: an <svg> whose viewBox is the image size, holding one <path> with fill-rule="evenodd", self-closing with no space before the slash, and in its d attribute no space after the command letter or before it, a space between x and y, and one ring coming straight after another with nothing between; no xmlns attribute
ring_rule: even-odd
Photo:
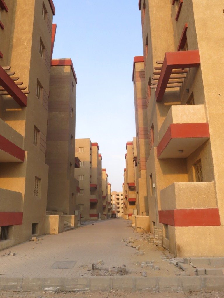
<svg viewBox="0 0 224 298"><path fill-rule="evenodd" d="M0 119L0 162L24 162L23 136Z"/></svg>

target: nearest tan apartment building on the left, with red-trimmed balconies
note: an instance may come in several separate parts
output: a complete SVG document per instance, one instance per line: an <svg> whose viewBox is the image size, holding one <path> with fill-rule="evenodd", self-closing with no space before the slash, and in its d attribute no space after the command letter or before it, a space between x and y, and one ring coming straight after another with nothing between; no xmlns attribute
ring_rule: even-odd
<svg viewBox="0 0 224 298"><path fill-rule="evenodd" d="M45 233L54 14L52 0L0 0L1 249Z"/></svg>

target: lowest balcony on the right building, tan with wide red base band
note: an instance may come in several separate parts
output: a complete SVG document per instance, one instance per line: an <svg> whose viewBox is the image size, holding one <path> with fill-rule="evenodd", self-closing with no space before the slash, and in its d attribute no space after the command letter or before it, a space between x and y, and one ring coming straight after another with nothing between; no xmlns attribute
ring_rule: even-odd
<svg viewBox="0 0 224 298"><path fill-rule="evenodd" d="M159 223L220 226L214 182L175 182L160 191Z"/></svg>

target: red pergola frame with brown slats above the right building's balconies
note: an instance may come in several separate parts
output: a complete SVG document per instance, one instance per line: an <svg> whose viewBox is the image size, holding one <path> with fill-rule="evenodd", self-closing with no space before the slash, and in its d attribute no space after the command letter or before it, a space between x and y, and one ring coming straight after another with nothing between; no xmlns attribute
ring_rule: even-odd
<svg viewBox="0 0 224 298"><path fill-rule="evenodd" d="M156 89L156 101L162 101L167 88L180 88L188 68L200 66L199 50L167 52L164 60L156 61L151 88ZM157 77L159 76L159 77Z"/></svg>

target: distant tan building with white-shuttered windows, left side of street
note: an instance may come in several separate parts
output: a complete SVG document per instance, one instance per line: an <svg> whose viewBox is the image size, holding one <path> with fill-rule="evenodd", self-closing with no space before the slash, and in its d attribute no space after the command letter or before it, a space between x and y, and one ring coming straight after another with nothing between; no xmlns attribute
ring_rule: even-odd
<svg viewBox="0 0 224 298"><path fill-rule="evenodd" d="M99 155L98 143L92 143L90 139L76 139L75 156L80 160L75 178L79 180L80 192L77 195L76 204L81 218L83 221L101 219L102 156Z"/></svg>

